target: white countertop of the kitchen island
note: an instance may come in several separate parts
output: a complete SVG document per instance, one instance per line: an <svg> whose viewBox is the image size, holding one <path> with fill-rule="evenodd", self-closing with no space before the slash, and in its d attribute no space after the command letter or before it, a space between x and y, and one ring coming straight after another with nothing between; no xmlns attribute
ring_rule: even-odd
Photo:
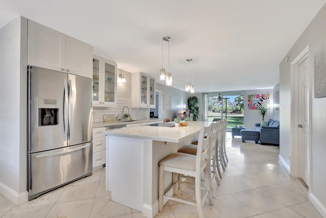
<svg viewBox="0 0 326 218"><path fill-rule="evenodd" d="M201 127L207 127L210 123L211 122L208 121L190 121L186 127L130 127L127 129L103 131L103 134L108 136L179 143L189 136L198 134Z"/></svg>

